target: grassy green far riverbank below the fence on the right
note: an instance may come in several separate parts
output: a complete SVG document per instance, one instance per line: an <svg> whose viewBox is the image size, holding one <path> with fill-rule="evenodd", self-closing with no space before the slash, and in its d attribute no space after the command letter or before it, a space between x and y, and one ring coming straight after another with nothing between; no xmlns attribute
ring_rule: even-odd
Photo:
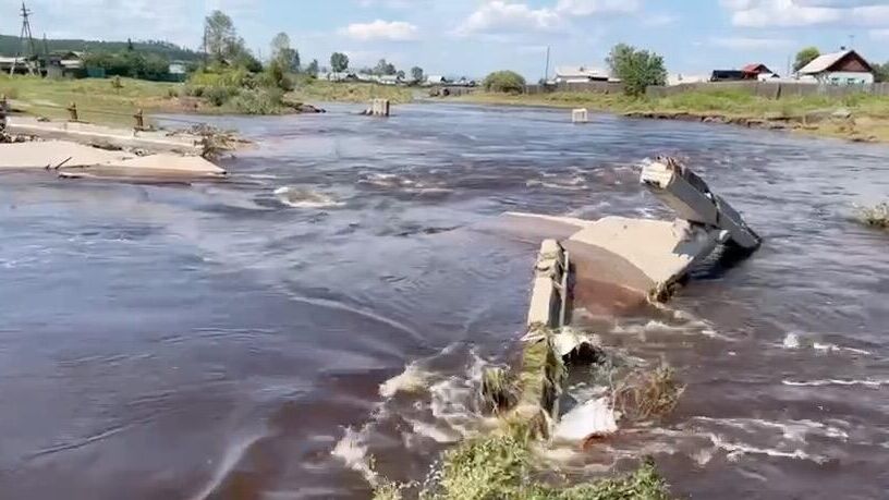
<svg viewBox="0 0 889 500"><path fill-rule="evenodd" d="M453 100L510 106L587 108L634 118L686 120L748 127L789 130L855 142L889 143L889 98L855 95L766 99L738 92L686 93L663 98L622 94L552 93L508 95L476 93Z"/></svg>

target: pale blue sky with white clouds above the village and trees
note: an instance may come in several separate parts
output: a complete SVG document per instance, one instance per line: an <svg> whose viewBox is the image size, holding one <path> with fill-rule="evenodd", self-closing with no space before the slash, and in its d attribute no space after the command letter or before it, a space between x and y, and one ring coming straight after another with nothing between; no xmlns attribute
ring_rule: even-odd
<svg viewBox="0 0 889 500"><path fill-rule="evenodd" d="M19 0L0 0L0 33L17 34ZM162 38L197 47L207 12L229 13L254 52L287 32L303 60L332 51L353 66L387 58L401 69L484 76L513 69L532 80L552 65L604 66L624 41L661 53L671 73L765 62L783 73L814 45L852 45L889 60L889 0L31 0L35 35ZM850 38L854 36L853 38Z"/></svg>

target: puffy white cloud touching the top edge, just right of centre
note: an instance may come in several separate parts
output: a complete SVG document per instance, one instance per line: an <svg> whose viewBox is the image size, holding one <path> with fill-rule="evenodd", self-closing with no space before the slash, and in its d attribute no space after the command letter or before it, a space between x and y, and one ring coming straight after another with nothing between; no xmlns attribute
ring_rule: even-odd
<svg viewBox="0 0 889 500"><path fill-rule="evenodd" d="M470 14L455 29L458 35L482 33L547 32L556 29L561 16L551 9L532 9L525 3L494 0Z"/></svg>

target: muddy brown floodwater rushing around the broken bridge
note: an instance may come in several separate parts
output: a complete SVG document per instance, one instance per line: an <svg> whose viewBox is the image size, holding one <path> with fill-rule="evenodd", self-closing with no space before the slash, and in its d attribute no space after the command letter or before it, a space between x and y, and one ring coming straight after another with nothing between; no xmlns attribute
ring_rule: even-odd
<svg viewBox="0 0 889 500"><path fill-rule="evenodd" d="M849 217L889 193L888 148L358 110L220 119L260 144L223 184L0 176L0 498L367 498L370 456L422 480L522 333L537 242L497 216L666 217L636 184L661 153L766 243L599 326L687 390L658 426L547 460L596 477L651 454L681 498L887 498L889 236Z"/></svg>

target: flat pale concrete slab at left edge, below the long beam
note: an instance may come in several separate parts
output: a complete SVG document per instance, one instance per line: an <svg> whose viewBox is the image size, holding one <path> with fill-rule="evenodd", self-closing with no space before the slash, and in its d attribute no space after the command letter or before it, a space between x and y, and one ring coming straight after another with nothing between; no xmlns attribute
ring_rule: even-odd
<svg viewBox="0 0 889 500"><path fill-rule="evenodd" d="M54 169L129 160L135 155L64 141L0 144L0 169Z"/></svg>

